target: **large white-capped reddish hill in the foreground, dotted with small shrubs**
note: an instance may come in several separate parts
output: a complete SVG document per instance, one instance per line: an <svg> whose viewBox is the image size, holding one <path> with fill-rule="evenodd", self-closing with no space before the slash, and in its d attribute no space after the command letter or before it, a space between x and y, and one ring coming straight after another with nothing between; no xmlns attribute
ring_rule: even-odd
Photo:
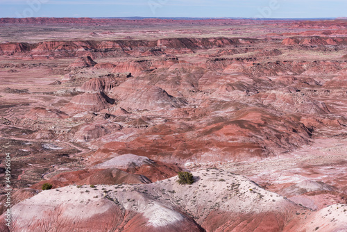
<svg viewBox="0 0 347 232"><path fill-rule="evenodd" d="M192 188L179 185L177 177L174 177L150 185L99 185L96 188L83 185L46 190L12 208L12 229L162 231L164 228L165 231L204 231L198 225L204 224L208 231L215 231L232 226L230 222L238 222L239 225L234 226L238 230L250 217L261 222L267 216L263 223L248 224L244 231L266 228L275 231L287 223L286 212L292 215L299 209L242 176L226 172L219 172L216 176L216 171L219 172L213 169L194 172L199 179ZM90 207L93 210L88 210ZM32 214L20 213L28 208ZM219 215L225 217L215 224ZM197 222L193 218L197 218ZM92 224L95 220L101 226ZM210 223L213 223L212 227Z"/></svg>

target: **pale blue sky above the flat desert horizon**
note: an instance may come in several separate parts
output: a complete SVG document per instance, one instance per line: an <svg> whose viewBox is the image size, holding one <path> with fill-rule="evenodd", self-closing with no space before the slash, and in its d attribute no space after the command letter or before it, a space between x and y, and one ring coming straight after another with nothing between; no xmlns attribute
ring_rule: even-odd
<svg viewBox="0 0 347 232"><path fill-rule="evenodd" d="M347 16L347 0L0 0L0 17Z"/></svg>

